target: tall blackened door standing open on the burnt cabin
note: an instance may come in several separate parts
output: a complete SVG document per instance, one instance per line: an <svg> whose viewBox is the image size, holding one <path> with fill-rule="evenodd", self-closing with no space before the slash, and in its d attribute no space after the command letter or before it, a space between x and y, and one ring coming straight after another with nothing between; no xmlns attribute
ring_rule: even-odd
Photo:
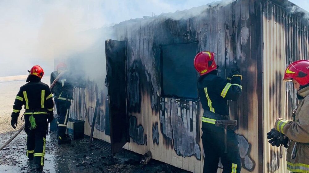
<svg viewBox="0 0 309 173"><path fill-rule="evenodd" d="M112 154L129 142L126 110L125 41L105 41Z"/></svg>

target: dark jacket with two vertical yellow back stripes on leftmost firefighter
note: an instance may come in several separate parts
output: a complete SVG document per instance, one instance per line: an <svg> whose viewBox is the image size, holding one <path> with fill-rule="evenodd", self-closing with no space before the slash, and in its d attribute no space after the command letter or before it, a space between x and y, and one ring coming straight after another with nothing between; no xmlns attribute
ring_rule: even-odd
<svg viewBox="0 0 309 173"><path fill-rule="evenodd" d="M21 86L16 95L11 116L18 117L23 105L26 113L46 114L47 112L53 112L53 95L49 86L34 75L29 75L27 81L29 82Z"/></svg>

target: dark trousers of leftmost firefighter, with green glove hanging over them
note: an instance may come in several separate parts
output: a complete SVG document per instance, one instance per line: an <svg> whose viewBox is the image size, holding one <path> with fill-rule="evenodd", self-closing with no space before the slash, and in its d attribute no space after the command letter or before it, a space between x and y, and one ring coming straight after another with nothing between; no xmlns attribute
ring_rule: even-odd
<svg viewBox="0 0 309 173"><path fill-rule="evenodd" d="M47 131L47 114L34 114L36 127L31 128L29 117L25 116L25 132L27 134L27 157L33 158L36 164L44 166L46 131Z"/></svg>

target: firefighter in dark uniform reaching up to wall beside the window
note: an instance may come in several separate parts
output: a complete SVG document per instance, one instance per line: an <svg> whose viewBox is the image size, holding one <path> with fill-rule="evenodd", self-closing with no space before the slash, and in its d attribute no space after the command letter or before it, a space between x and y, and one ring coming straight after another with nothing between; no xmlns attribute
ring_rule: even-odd
<svg viewBox="0 0 309 173"><path fill-rule="evenodd" d="M219 77L214 53L208 51L195 56L194 67L200 74L197 87L204 110L201 118L205 153L203 172L216 173L220 158L222 173L239 173L241 162L234 132L236 121L229 120L228 100L239 98L242 75L234 68L227 79Z"/></svg>

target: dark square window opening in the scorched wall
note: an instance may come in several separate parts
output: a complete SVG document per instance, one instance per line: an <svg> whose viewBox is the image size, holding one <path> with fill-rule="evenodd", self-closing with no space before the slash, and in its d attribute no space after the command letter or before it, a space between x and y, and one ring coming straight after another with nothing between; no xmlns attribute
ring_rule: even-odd
<svg viewBox="0 0 309 173"><path fill-rule="evenodd" d="M197 99L197 42L161 46L161 96Z"/></svg>

